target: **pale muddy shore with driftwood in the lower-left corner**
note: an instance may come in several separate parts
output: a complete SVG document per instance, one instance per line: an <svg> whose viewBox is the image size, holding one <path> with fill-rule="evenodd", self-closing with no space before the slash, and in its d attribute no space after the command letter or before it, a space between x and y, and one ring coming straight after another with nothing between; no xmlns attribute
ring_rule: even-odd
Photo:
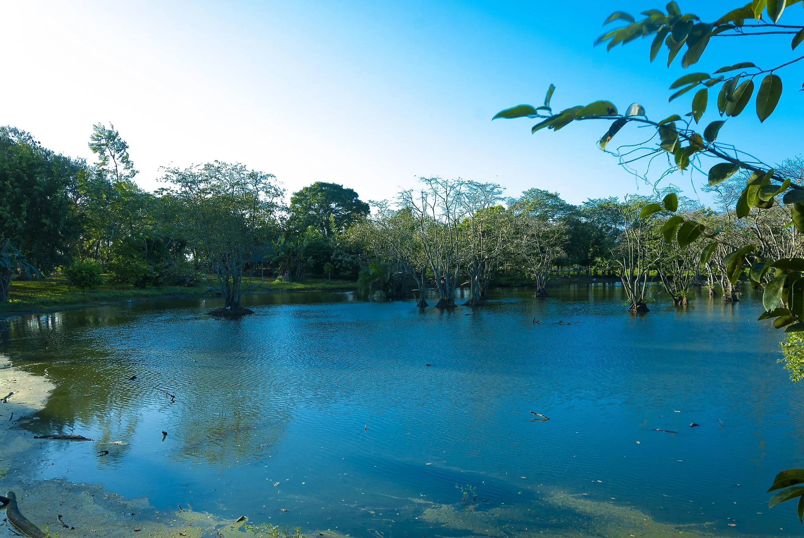
<svg viewBox="0 0 804 538"><path fill-rule="evenodd" d="M19 510L35 527L55 536L243 536L243 520L219 520L207 513L185 508L159 511L147 498L125 499L101 484L73 483L67 478L40 479L37 467L47 466L45 443L18 427L18 421L44 409L55 389L47 377L36 376L15 367L0 355L0 495L17 494ZM14 413L13 416L11 413ZM11 417L11 420L10 418ZM67 525L65 527L64 525ZM21 536L7 520L0 521L0 536ZM23 535L24 536L24 535Z"/></svg>

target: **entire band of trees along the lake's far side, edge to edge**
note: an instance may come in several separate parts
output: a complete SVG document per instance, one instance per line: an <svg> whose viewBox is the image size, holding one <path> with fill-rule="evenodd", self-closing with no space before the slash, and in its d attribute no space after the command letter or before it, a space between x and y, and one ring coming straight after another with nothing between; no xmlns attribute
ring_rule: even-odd
<svg viewBox="0 0 804 538"><path fill-rule="evenodd" d="M355 191L321 182L285 206L273 175L217 161L164 169L165 187L146 192L134 183L137 170L113 126L95 125L89 147L94 165L0 129L2 299L12 278L38 274L60 272L82 289L104 279L146 287L209 276L232 313L265 277L334 274L356 279L365 296L415 297L420 306L435 290L436 306L450 308L458 288L468 290L466 304L479 306L490 285L531 284L544 297L552 278L583 273L618 278L631 310L647 310L651 283L679 305L695 285L738 300L732 248L758 244L766 257L802 249L786 206L736 218L740 175L707 187L714 208L670 190L574 206L540 189L503 198L494 183L422 178L420 188L371 212ZM786 163L798 181L802 171L801 161ZM669 210L646 214L668 199L675 200ZM705 237L684 247L672 240L683 219L720 229L722 243L705 261Z"/></svg>

